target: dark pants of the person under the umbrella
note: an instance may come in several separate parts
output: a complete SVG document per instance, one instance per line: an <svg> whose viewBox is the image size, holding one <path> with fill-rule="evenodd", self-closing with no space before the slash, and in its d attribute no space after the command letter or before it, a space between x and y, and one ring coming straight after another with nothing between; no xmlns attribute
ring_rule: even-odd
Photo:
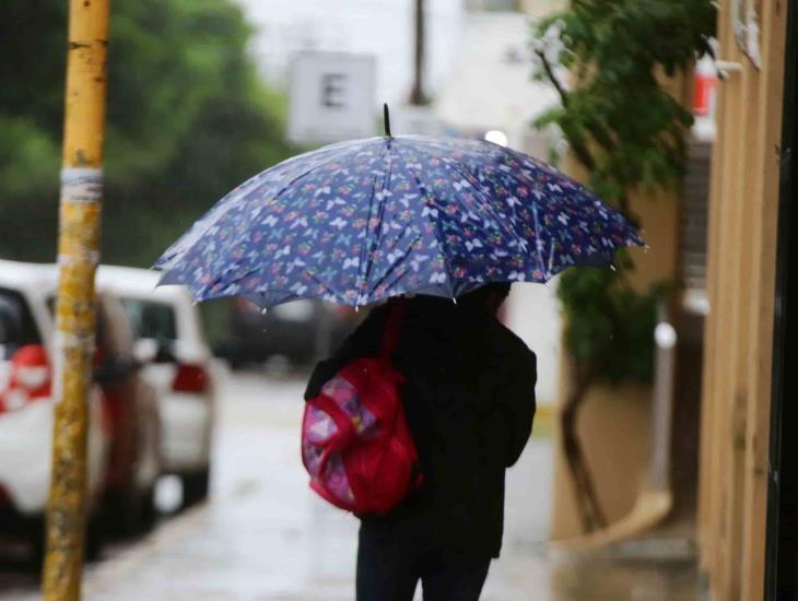
<svg viewBox="0 0 798 601"><path fill-rule="evenodd" d="M419 580L424 601L478 601L490 565L490 557L431 549L363 523L357 601L412 601Z"/></svg>

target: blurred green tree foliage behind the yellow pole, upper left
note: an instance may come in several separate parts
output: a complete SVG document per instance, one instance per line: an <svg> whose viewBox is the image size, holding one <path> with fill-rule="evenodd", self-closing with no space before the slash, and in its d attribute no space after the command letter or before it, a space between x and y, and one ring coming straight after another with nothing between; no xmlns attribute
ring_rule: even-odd
<svg viewBox="0 0 798 601"><path fill-rule="evenodd" d="M0 21L0 256L52 260L67 2ZM227 190L291 154L230 0L112 3L103 257L148 266Z"/></svg>

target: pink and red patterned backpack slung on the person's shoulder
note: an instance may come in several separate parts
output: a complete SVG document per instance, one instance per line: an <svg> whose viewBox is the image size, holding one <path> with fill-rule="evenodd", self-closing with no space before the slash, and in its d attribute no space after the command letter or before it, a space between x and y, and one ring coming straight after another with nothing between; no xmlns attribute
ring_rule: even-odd
<svg viewBox="0 0 798 601"><path fill-rule="evenodd" d="M310 487L355 515L385 514L421 484L399 385L390 363L403 320L397 303L377 357L340 369L305 403L302 459Z"/></svg>

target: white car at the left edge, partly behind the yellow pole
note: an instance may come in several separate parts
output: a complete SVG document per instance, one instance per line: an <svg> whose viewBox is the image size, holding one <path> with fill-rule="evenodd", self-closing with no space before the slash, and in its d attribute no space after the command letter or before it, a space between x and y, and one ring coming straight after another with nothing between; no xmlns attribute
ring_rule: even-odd
<svg viewBox="0 0 798 601"><path fill-rule="evenodd" d="M52 264L0 260L0 538L42 542L52 453ZM104 493L110 444L101 391L89 400L90 512Z"/></svg>

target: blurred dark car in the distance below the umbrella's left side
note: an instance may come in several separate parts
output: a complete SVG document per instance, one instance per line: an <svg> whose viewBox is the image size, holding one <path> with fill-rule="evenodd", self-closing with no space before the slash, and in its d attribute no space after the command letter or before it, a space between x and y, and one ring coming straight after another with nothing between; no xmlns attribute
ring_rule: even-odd
<svg viewBox="0 0 798 601"><path fill-rule="evenodd" d="M225 354L234 367L282 355L294 365L327 356L354 329L357 315L317 299L300 299L263 311L246 298L231 305L233 340Z"/></svg>

